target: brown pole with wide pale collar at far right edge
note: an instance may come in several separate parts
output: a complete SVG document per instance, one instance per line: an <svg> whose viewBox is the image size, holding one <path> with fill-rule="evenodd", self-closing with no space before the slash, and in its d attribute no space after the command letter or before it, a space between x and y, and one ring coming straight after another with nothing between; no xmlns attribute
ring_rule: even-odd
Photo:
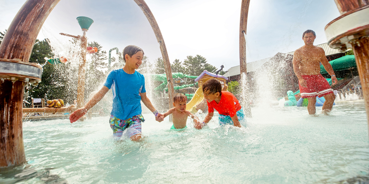
<svg viewBox="0 0 369 184"><path fill-rule="evenodd" d="M369 120L369 1L335 0L335 3L341 16L325 26L327 44L340 52L354 50Z"/></svg>

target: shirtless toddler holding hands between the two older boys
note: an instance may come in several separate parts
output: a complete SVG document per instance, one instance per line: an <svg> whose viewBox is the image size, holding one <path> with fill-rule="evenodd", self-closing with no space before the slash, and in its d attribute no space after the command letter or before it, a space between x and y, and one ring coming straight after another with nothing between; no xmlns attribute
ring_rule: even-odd
<svg viewBox="0 0 369 184"><path fill-rule="evenodd" d="M199 118L193 115L191 112L186 110L187 97L182 93L176 93L173 97L173 108L169 109L166 113L161 117L163 120L169 114L173 114L173 125L170 129L182 129L187 128L186 122L187 117L191 117L194 119L195 124L200 123Z"/></svg>

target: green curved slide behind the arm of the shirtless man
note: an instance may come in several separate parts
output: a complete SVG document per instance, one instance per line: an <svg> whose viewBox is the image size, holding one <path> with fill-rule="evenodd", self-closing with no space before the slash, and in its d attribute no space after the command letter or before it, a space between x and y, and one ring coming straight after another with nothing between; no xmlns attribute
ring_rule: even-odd
<svg viewBox="0 0 369 184"><path fill-rule="evenodd" d="M331 63L332 68L334 71L340 71L340 70L346 70L349 69L351 67L356 68L356 62L355 62L355 56L354 55L347 55L344 57L340 57L338 59L329 61L329 63ZM321 74L326 74L328 73L325 69L324 66L320 66L320 73Z"/></svg>

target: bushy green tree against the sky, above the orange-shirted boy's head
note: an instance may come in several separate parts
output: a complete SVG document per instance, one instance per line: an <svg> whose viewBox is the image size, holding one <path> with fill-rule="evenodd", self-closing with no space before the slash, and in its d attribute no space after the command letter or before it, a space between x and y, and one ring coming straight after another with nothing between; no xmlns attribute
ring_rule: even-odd
<svg viewBox="0 0 369 184"><path fill-rule="evenodd" d="M208 64L206 58L200 55L196 55L195 57L187 56L187 59L183 61L183 66L184 72L187 75L196 76L199 76L204 70L207 70L208 72L215 72L217 69L211 64Z"/></svg>

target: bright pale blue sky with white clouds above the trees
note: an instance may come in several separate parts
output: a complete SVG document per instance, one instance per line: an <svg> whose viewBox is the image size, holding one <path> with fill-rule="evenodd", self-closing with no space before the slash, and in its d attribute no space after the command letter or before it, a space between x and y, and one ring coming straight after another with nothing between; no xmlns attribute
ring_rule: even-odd
<svg viewBox="0 0 369 184"><path fill-rule="evenodd" d="M0 31L10 25L25 0L0 0ZM241 0L146 0L162 31L169 59L199 54L225 70L239 65L238 30ZM76 17L94 20L87 36L108 52L127 45L141 47L150 60L161 57L145 15L133 0L61 0L39 39L58 33L80 35ZM314 44L327 42L324 26L339 16L334 0L251 0L247 25L247 62L291 52L303 45L302 33L317 33ZM115 56L113 53L112 56Z"/></svg>

